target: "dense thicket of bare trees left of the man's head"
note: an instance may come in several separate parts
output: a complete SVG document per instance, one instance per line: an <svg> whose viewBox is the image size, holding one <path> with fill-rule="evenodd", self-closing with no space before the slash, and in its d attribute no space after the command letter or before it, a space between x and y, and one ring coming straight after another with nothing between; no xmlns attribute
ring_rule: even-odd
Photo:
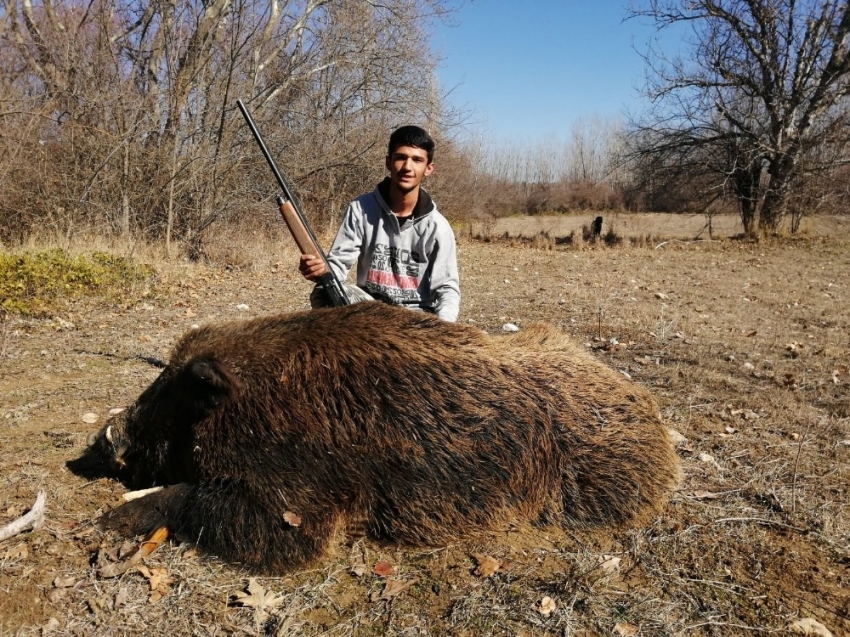
<svg viewBox="0 0 850 637"><path fill-rule="evenodd" d="M319 221L380 176L393 126L452 125L442 0L2 2L0 157L33 161L0 161L0 225L22 232L193 243L239 217L273 187L238 97Z"/></svg>

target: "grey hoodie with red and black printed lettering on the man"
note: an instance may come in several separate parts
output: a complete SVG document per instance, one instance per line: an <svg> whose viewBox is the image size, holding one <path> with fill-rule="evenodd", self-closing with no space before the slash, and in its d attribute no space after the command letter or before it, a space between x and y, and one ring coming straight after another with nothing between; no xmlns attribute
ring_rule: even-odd
<svg viewBox="0 0 850 637"><path fill-rule="evenodd" d="M345 281L356 262L357 285L373 297L456 321L460 286L449 222L422 189L413 214L399 219L382 194L388 188L386 179L349 204L328 253L334 274Z"/></svg>

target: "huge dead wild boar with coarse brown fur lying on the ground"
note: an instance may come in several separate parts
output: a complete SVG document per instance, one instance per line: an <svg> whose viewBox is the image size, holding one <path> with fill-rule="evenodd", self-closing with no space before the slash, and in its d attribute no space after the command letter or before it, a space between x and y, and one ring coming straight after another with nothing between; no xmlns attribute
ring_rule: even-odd
<svg viewBox="0 0 850 637"><path fill-rule="evenodd" d="M188 332L69 464L166 487L105 527L164 525L266 572L345 525L439 545L519 519L637 524L679 479L648 392L555 328L491 337L380 303Z"/></svg>

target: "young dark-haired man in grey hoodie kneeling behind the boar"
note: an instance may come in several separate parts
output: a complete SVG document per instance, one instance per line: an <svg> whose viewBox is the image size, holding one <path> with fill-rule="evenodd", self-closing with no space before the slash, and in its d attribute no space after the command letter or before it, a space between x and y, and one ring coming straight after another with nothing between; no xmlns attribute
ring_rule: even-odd
<svg viewBox="0 0 850 637"><path fill-rule="evenodd" d="M421 187L434 171L434 140L418 126L399 128L390 136L386 165L389 177L349 204L328 263L340 281L356 263L357 286L372 298L456 321L454 233ZM298 269L309 281L325 273L314 255L302 255ZM326 305L324 290L314 290L310 301Z"/></svg>

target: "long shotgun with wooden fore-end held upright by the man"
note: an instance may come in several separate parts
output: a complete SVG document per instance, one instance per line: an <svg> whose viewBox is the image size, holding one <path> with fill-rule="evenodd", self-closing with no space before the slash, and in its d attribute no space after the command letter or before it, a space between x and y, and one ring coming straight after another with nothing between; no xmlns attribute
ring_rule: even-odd
<svg viewBox="0 0 850 637"><path fill-rule="evenodd" d="M313 234L310 224L307 223L307 219L301 212L301 206L298 204L298 200L286 185L286 181L278 169L277 164L275 164L271 153L269 153L269 149L266 148L266 143L263 141L260 131L257 130L254 120L251 119L251 114L248 113L248 109L245 107L242 100L236 100L236 105L239 107L239 110L242 111L242 116L245 118L248 128L251 129L254 139L257 140L257 144L260 146L260 150L263 152L263 156L266 158L269 168L272 169L272 172L277 179L277 183L283 192L282 195L277 196L278 209L280 210L283 220L286 222L286 226L289 228L289 233L292 235L292 238L295 239L298 249L301 250L301 254L316 255L324 262L327 272L319 277L319 283L322 284L325 292L327 292L331 305L334 307L349 305L351 301L348 298L348 294L345 292L345 288L342 286L339 279L337 279L333 270L331 270L327 256L325 256L324 251L321 246L319 246L319 242L316 240L316 235Z"/></svg>

